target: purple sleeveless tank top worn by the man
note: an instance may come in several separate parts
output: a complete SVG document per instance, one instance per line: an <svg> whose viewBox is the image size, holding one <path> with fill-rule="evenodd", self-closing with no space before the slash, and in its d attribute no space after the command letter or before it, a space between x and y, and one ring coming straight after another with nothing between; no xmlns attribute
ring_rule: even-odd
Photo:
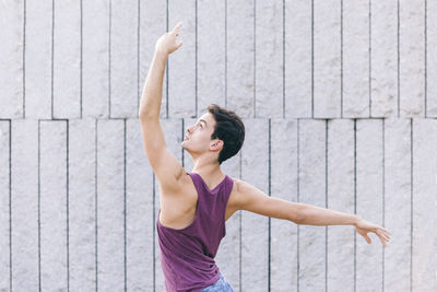
<svg viewBox="0 0 437 292"><path fill-rule="evenodd" d="M226 235L225 211L234 180L229 176L210 189L197 173L190 175L198 191L194 221L181 229L166 227L156 220L161 265L167 291L200 291L215 283L220 269L214 257Z"/></svg>

